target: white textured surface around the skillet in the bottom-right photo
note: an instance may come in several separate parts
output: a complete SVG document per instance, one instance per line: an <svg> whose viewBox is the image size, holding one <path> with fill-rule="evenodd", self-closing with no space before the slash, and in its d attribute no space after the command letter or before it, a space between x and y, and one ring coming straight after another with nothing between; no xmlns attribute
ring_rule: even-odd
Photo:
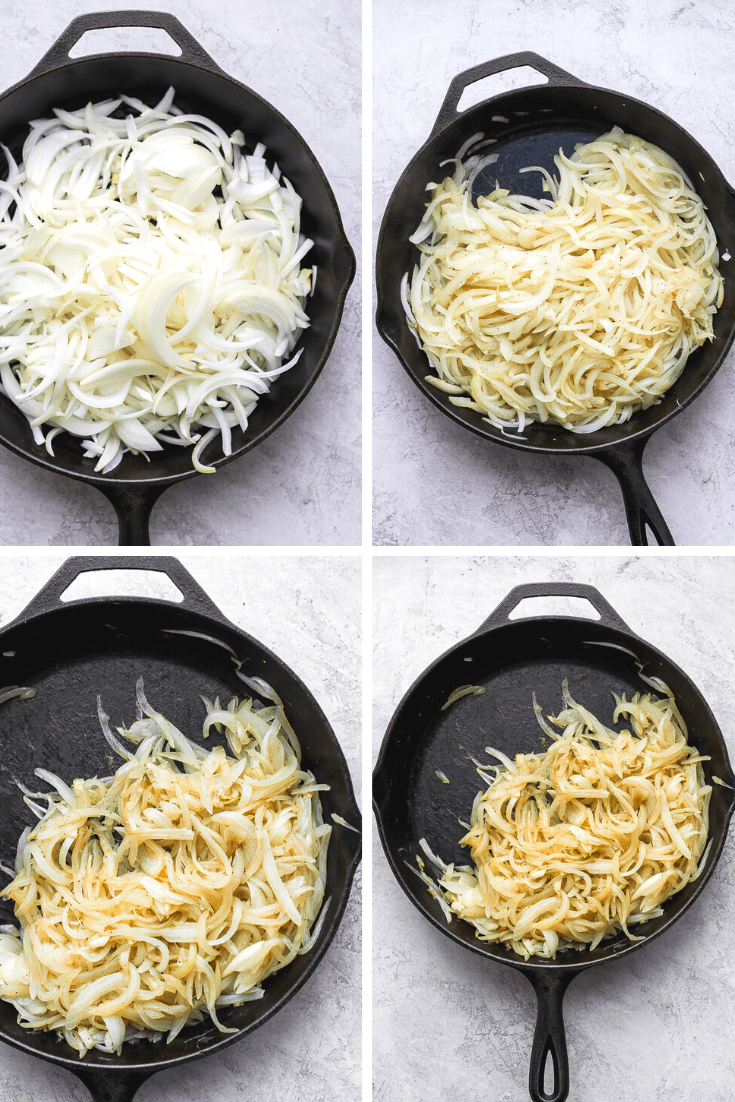
<svg viewBox="0 0 735 1102"><path fill-rule="evenodd" d="M735 754L729 558L376 558L375 753L403 692L521 582L595 585L699 685ZM560 604L561 602L561 604ZM585 603L586 605L586 603ZM525 615L581 615L564 598ZM588 609L588 605L586 606ZM520 974L443 937L409 903L375 834L375 1102L528 1102L534 996ZM570 1102L728 1102L735 1073L735 851L635 957L572 983Z"/></svg>

